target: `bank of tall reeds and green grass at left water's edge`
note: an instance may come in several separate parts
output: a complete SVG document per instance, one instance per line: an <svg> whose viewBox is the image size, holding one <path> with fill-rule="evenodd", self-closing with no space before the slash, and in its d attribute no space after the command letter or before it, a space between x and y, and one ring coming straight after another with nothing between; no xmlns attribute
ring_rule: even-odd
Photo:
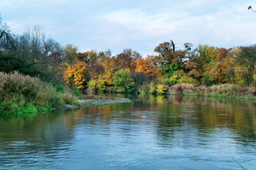
<svg viewBox="0 0 256 170"><path fill-rule="evenodd" d="M78 95L36 77L0 72L0 114L44 112L65 104L80 105Z"/></svg>

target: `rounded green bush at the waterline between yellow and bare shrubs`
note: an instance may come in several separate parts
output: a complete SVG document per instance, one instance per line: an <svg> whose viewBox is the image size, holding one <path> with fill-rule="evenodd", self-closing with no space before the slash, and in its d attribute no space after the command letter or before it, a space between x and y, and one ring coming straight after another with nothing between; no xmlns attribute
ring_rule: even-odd
<svg viewBox="0 0 256 170"><path fill-rule="evenodd" d="M114 91L131 93L134 91L134 81L130 77L131 71L129 69L121 69L116 71L113 77Z"/></svg>

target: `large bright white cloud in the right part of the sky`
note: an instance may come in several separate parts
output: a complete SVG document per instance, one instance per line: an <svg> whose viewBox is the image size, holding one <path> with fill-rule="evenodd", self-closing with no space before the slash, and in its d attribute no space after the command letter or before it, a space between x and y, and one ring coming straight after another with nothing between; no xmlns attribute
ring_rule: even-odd
<svg viewBox="0 0 256 170"><path fill-rule="evenodd" d="M103 18L146 37L166 36L184 42L223 46L234 42L237 45L255 42L255 14L247 11L246 4L212 6L214 9L210 8L207 12L204 11L206 6L214 4L202 3L199 6L201 3L201 0L194 0L156 13L148 13L142 8L118 10L103 15ZM201 12L196 12L194 8L189 10L189 7Z"/></svg>

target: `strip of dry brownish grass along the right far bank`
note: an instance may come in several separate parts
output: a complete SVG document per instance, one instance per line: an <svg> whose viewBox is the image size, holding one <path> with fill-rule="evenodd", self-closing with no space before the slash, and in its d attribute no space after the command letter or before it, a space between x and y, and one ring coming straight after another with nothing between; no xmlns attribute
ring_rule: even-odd
<svg viewBox="0 0 256 170"><path fill-rule="evenodd" d="M177 84L169 87L169 94L184 96L208 96L220 98L256 99L256 87L221 84L209 87L192 84Z"/></svg>

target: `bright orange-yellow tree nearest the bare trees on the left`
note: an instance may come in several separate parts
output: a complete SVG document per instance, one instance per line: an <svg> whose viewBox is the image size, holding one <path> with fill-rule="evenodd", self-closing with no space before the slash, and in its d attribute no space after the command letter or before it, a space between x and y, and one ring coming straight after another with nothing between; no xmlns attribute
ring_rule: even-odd
<svg viewBox="0 0 256 170"><path fill-rule="evenodd" d="M84 88L87 77L87 67L85 62L76 62L74 65L69 65L64 71L64 79L68 85L74 85L78 89Z"/></svg>

